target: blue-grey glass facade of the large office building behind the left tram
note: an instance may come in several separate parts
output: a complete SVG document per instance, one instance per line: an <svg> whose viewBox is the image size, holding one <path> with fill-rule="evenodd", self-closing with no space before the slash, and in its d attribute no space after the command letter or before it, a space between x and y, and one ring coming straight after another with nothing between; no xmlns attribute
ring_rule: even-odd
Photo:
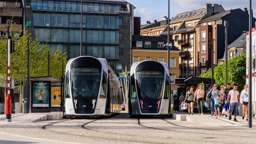
<svg viewBox="0 0 256 144"><path fill-rule="evenodd" d="M81 3L31 0L30 5L39 41L48 42L53 52L59 45L68 59L80 56ZM82 55L118 61L119 9L121 5L83 3Z"/></svg>

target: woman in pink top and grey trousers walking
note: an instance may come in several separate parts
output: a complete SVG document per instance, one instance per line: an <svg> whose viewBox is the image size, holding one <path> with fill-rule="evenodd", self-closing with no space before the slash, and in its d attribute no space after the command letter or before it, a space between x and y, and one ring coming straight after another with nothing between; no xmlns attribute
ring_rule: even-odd
<svg viewBox="0 0 256 144"><path fill-rule="evenodd" d="M203 84L200 84L198 89L196 90L194 100L196 100L197 102L198 115L200 115L200 110L201 110L201 115L204 115L203 114L203 102L204 102Z"/></svg>

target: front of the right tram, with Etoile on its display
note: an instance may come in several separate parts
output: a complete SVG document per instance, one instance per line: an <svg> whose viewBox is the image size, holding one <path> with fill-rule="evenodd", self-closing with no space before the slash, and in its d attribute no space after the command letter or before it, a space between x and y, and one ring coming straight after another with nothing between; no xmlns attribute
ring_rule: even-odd
<svg viewBox="0 0 256 144"><path fill-rule="evenodd" d="M145 60L132 64L130 115L169 115L169 70L166 63Z"/></svg>

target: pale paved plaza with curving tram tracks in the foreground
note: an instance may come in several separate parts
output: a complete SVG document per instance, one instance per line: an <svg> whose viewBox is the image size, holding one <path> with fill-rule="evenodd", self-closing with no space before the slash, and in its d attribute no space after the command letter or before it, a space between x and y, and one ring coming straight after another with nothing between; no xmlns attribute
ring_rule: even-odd
<svg viewBox="0 0 256 144"><path fill-rule="evenodd" d="M195 114L187 116L187 121L178 121L168 117L131 118L122 112L104 118L33 122L44 115L13 114L11 123L5 122L5 115L1 115L0 143L254 143L256 140L256 128L247 128L247 121L240 116L238 122L208 114Z"/></svg>

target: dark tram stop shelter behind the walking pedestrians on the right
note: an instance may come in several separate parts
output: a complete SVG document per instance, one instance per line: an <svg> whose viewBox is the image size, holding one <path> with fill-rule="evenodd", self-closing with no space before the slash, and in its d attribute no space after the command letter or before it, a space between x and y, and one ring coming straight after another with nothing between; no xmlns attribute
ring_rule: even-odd
<svg viewBox="0 0 256 144"><path fill-rule="evenodd" d="M203 83L204 84L204 101L205 101L207 93L211 90L212 78L190 76L189 78L185 79L184 82L186 82L186 85L185 85L186 92L188 92L188 90L190 89L191 85L194 86L194 91L195 91L196 87L198 86L198 84L199 83ZM214 79L213 79L213 84L215 84L215 80ZM197 106L196 102L194 103L194 106L195 105ZM194 110L196 110L196 109L194 108ZM210 109L204 107L204 110L205 110L205 112L207 112Z"/></svg>

